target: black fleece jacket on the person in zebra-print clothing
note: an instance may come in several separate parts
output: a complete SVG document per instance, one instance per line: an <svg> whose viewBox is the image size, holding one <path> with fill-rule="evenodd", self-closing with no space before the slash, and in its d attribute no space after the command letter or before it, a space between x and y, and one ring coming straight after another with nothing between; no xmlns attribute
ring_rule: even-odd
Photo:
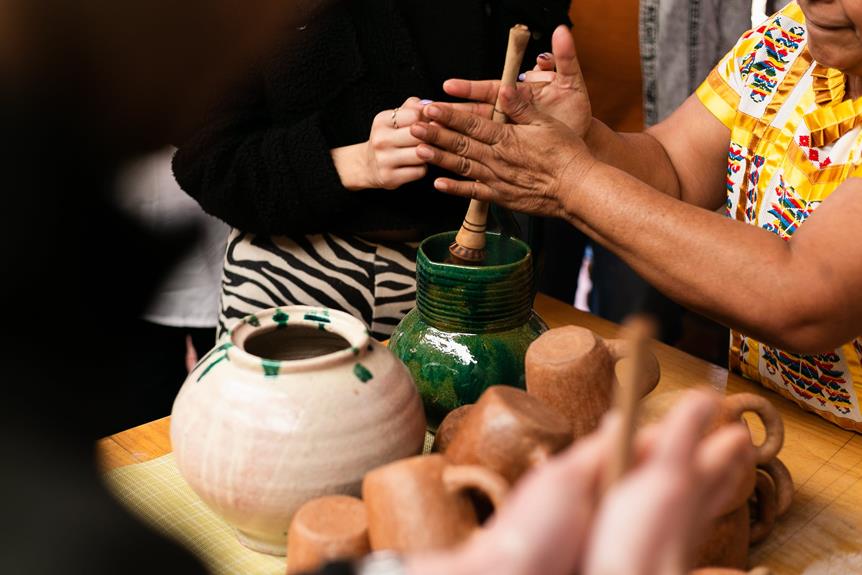
<svg viewBox="0 0 862 575"><path fill-rule="evenodd" d="M508 28L536 32L524 66L567 23L561 0L347 0L309 18L249 85L180 146L174 173L207 212L267 235L456 229L466 203L439 172L398 190L351 192L330 150L368 139L382 110L442 99L450 77L498 76Z"/></svg>

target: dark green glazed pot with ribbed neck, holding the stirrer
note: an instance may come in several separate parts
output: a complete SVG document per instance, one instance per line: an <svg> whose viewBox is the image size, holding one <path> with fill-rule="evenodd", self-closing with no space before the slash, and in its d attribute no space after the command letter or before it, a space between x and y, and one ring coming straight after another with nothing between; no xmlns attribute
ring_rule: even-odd
<svg viewBox="0 0 862 575"><path fill-rule="evenodd" d="M533 311L533 261L524 242L487 234L483 266L444 263L455 232L427 238L416 257L416 307L389 341L436 428L491 385L525 388L524 355L548 329Z"/></svg>

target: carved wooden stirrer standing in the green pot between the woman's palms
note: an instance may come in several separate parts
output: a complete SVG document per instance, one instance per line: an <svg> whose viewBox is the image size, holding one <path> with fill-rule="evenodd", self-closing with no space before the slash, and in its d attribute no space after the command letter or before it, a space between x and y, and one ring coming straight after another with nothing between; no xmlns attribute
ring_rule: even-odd
<svg viewBox="0 0 862 575"><path fill-rule="evenodd" d="M500 87L514 86L518 81L521 62L527 43L530 41L530 29L523 24L516 24L509 30L509 46L506 49L506 63L503 66L503 76ZM500 97L494 104L494 121L506 122L506 115L500 111ZM485 259L485 229L488 222L488 203L470 200L464 223L455 236L455 242L449 246L453 263L475 265Z"/></svg>

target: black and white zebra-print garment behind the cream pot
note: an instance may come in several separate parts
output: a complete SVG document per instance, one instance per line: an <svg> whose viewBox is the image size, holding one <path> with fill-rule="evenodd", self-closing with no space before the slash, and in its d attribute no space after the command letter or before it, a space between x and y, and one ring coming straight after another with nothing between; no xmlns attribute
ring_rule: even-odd
<svg viewBox="0 0 862 575"><path fill-rule="evenodd" d="M416 298L418 243L355 236L256 236L231 230L222 277L219 339L248 314L319 305L361 319L386 339Z"/></svg>

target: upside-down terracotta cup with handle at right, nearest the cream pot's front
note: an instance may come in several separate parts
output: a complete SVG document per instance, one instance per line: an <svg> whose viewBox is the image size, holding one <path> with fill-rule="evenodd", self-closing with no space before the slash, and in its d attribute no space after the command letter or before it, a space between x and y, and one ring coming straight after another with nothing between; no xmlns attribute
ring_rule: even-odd
<svg viewBox="0 0 862 575"><path fill-rule="evenodd" d="M508 484L477 465L452 465L440 454L402 459L371 471L362 484L371 548L401 553L445 549L479 526L468 491L498 507Z"/></svg>

